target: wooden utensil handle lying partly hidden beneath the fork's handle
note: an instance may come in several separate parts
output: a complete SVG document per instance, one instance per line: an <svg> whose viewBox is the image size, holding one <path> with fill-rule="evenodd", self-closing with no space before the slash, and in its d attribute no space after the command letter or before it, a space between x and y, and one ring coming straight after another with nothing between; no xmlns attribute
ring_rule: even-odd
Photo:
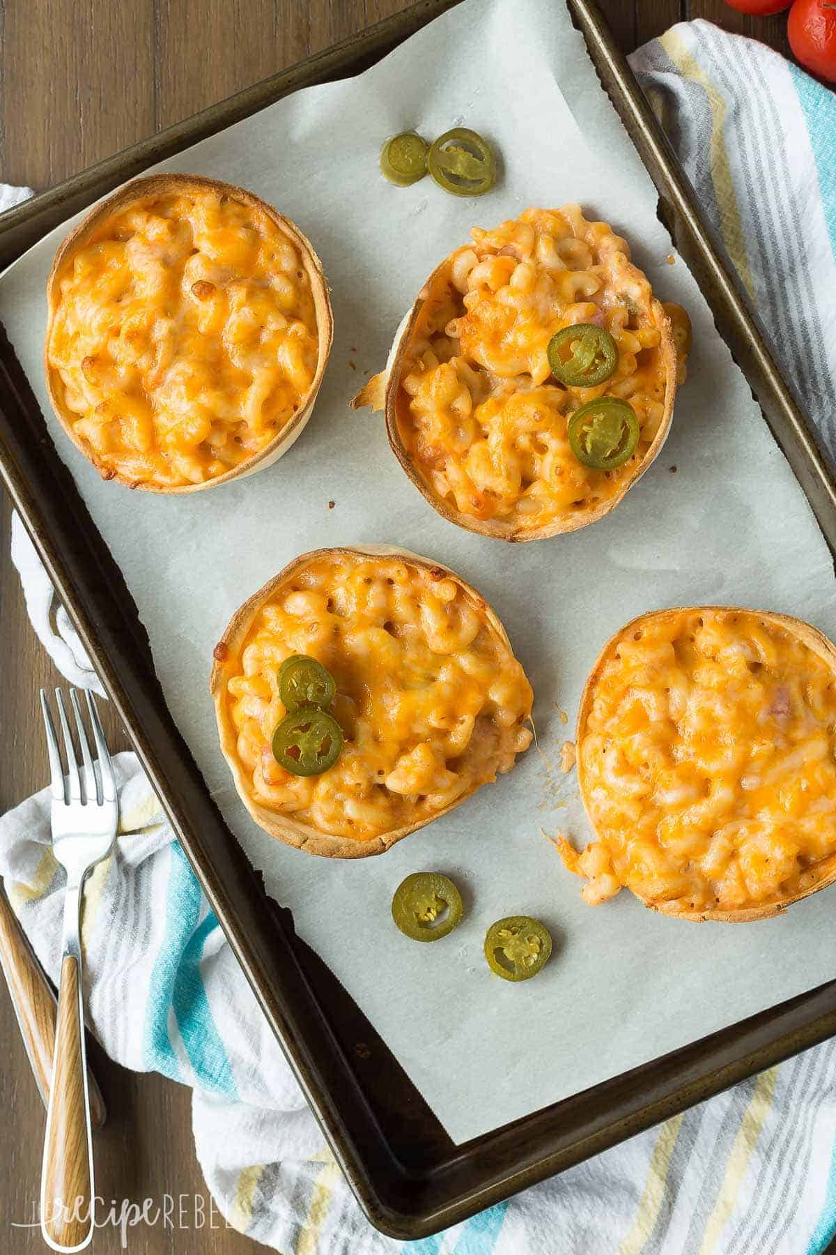
<svg viewBox="0 0 836 1255"><path fill-rule="evenodd" d="M49 1106L49 1084L55 1053L55 994L29 941L0 889L0 966L6 978L20 1034L44 1106ZM104 1124L107 1111L95 1077L88 1068L90 1121L93 1128Z"/></svg>

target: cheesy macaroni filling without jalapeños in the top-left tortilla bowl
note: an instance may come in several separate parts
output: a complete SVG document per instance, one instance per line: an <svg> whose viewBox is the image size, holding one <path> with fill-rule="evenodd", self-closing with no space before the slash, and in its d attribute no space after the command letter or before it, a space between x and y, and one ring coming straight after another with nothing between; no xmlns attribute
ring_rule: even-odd
<svg viewBox="0 0 836 1255"><path fill-rule="evenodd" d="M48 344L104 478L227 473L293 418L317 369L311 279L269 215L214 188L140 198L71 250Z"/></svg>

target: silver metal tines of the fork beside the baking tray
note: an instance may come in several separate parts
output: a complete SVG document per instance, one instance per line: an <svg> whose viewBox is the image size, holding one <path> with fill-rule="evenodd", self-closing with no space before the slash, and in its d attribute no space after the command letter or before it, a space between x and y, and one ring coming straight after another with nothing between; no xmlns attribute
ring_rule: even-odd
<svg viewBox="0 0 836 1255"><path fill-rule="evenodd" d="M64 756L66 758L65 773L58 745L58 737L55 735L55 724L53 723L53 715L46 699L46 692L44 689L40 690L40 708L44 714L44 728L46 730L53 798L56 802L74 802L75 804L83 806L103 806L105 802L115 801L117 782L113 774L113 763L110 762L110 754L108 753L108 747L104 740L104 732L102 730L99 713L95 708L93 694L89 689L85 689L84 697L86 698L88 715L93 729L93 739L95 740L98 758L94 761L90 754L90 743L88 740L84 720L81 718L78 689L70 689L70 704L73 707L73 714L75 715L78 743L81 750L81 769L79 771L75 745L73 744L73 735L70 733L70 724L66 718L64 694L61 689L55 689L58 722L61 729Z"/></svg>

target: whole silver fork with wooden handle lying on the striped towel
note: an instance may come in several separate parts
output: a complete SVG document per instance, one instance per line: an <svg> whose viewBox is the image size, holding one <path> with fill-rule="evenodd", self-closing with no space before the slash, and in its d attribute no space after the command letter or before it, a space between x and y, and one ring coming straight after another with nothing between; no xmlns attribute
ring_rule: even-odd
<svg viewBox="0 0 836 1255"><path fill-rule="evenodd" d="M53 853L66 871L55 1054L40 1180L41 1234L55 1251L80 1251L93 1237L93 1140L86 1082L79 924L84 880L91 867L110 852L119 818L117 782L110 754L93 698L86 690L85 697L98 759L94 764L79 695L76 689L70 689L81 752L79 769L64 695L60 689L55 689L58 722L66 758L65 778L55 724L46 694L44 689L40 690L51 773Z"/></svg>

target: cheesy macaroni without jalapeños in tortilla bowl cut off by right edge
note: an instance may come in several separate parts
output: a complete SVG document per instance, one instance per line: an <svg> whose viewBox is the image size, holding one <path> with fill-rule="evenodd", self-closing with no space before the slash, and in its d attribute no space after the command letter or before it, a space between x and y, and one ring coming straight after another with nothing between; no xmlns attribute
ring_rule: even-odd
<svg viewBox="0 0 836 1255"><path fill-rule="evenodd" d="M780 904L836 853L836 673L741 610L662 611L608 646L578 744L598 840L570 870L671 914Z"/></svg>

